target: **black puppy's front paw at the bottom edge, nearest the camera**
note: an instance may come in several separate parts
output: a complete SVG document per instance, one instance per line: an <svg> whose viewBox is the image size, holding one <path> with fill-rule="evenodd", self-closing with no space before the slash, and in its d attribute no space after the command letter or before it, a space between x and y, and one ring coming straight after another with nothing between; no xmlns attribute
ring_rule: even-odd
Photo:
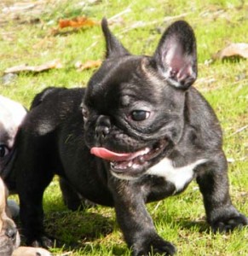
<svg viewBox="0 0 248 256"><path fill-rule="evenodd" d="M164 241L161 237L147 237L141 243L136 243L132 247L133 256L148 256L151 254L171 256L176 253L176 247L170 241Z"/></svg>

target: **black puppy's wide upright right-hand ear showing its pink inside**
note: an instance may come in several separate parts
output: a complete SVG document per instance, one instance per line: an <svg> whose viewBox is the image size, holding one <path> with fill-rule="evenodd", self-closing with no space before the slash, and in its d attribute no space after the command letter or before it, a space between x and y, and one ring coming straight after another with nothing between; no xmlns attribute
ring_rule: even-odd
<svg viewBox="0 0 248 256"><path fill-rule="evenodd" d="M177 88L187 89L197 78L196 40L192 27L183 20L169 26L153 58L164 79Z"/></svg>

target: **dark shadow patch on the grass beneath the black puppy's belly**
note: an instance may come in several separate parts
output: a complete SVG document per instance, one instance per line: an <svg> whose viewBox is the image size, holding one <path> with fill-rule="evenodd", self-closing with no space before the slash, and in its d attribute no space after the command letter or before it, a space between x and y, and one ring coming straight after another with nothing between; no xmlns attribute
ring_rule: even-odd
<svg viewBox="0 0 248 256"><path fill-rule="evenodd" d="M112 233L114 221L99 213L69 210L50 212L44 221L46 232L55 238L55 247L78 249L87 242Z"/></svg>

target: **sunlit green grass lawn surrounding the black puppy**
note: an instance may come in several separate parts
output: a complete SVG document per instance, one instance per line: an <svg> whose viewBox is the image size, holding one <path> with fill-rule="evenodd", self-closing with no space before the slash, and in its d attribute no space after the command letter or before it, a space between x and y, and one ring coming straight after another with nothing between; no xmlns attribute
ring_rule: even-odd
<svg viewBox="0 0 248 256"><path fill-rule="evenodd" d="M3 0L4 4L16 1ZM23 2L23 1L22 1ZM234 205L248 215L248 123L247 61L207 65L211 56L229 43L247 43L248 4L245 1L39 1L35 9L18 14L0 9L0 76L14 65L40 65L60 59L61 69L44 73L21 73L9 84L0 78L0 93L29 108L32 97L50 85L85 86L94 70L78 72L76 61L99 60L104 55L100 26L67 28L55 35L58 20L87 15L93 20L118 15L112 31L134 54L152 55L161 32L173 20L187 20L198 41L199 79L195 86L211 102L222 123L224 150L229 164ZM37 2L33 2L37 3ZM81 3L81 5L80 5ZM14 18L15 17L15 18ZM18 19L17 19L18 17ZM34 21L38 22L34 22ZM95 207L70 212L64 207L57 178L44 196L45 225L57 238L55 254L130 255L111 208ZM147 205L158 232L172 241L178 255L248 255L247 229L213 235L205 224L205 211L196 183L182 194ZM72 254L69 254L72 252Z"/></svg>

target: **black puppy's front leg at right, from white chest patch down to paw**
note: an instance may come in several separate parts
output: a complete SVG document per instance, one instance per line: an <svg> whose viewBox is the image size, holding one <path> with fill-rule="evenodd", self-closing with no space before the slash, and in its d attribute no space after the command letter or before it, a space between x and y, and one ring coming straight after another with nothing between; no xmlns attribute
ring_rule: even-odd
<svg viewBox="0 0 248 256"><path fill-rule="evenodd" d="M226 232L247 225L247 218L233 206L228 185L228 164L221 152L206 164L197 177L204 198L207 221L214 232Z"/></svg>

